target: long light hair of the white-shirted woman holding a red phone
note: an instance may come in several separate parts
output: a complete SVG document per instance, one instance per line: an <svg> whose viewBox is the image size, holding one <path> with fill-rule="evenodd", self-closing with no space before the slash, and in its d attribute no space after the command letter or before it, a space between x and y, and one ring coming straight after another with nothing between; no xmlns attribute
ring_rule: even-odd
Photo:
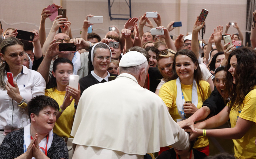
<svg viewBox="0 0 256 159"><path fill-rule="evenodd" d="M18 40L16 37L8 37L1 42L0 52L2 54L5 54L7 47L12 45L21 45L23 47L22 42ZM8 71L8 64L5 61L3 61L2 58L0 58L0 88L3 90L5 90L5 75Z"/></svg>

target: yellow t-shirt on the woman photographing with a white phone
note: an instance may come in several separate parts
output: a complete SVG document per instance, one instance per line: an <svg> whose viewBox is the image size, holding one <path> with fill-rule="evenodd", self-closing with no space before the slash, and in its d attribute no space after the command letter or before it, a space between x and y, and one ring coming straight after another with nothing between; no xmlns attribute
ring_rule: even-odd
<svg viewBox="0 0 256 159"><path fill-rule="evenodd" d="M55 99L59 106L61 106L64 100L65 91L62 92L58 91L57 89L53 91L53 89L50 88L45 90L45 95ZM75 108L73 100L70 106L64 110L60 118L56 121L53 132L60 137L71 137L70 132L74 122L74 113Z"/></svg>

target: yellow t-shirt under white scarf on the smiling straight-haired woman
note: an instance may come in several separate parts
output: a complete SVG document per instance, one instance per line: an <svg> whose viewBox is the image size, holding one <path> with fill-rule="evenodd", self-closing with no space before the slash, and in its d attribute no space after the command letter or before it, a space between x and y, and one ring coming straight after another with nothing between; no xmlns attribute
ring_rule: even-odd
<svg viewBox="0 0 256 159"><path fill-rule="evenodd" d="M199 84L204 93L204 99L202 99L199 89L197 87L197 95L198 95L198 104L197 108L201 108L203 105L203 101L205 101L211 94L210 85L208 82L204 80L200 80ZM192 84L185 85L181 83L181 89L184 95L185 101L192 101ZM177 119L181 119L179 115L177 106L176 106L176 98L177 98L177 85L176 79L171 80L163 84L159 91L159 96L163 99L166 106L169 107L169 113L172 116L173 120L177 122ZM205 147L209 144L208 138L206 136L199 136L199 139L195 142L193 148Z"/></svg>

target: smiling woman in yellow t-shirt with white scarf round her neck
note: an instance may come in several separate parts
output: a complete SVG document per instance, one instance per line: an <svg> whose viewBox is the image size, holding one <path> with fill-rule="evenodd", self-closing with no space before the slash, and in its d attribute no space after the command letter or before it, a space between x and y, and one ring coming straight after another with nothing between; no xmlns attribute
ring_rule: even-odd
<svg viewBox="0 0 256 159"><path fill-rule="evenodd" d="M172 69L173 80L163 84L159 96L172 118L178 122L201 108L211 90L209 83L202 80L198 61L191 50L178 51L174 56ZM193 148L209 155L207 137L199 137Z"/></svg>

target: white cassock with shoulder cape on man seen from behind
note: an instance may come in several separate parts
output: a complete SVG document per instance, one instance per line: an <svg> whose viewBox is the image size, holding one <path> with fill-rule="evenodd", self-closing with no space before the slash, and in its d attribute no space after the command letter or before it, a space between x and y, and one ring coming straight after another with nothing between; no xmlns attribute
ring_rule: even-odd
<svg viewBox="0 0 256 159"><path fill-rule="evenodd" d="M75 158L143 158L168 145L189 147L188 133L163 100L126 73L83 92L71 135L73 143L82 145Z"/></svg>

